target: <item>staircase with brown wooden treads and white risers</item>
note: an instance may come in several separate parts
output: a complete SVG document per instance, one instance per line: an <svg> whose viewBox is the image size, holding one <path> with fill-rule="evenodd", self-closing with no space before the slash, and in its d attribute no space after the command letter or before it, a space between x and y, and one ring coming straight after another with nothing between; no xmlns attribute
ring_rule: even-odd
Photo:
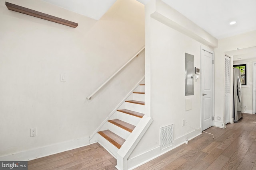
<svg viewBox="0 0 256 170"><path fill-rule="evenodd" d="M118 150L144 116L144 104L145 84L140 84L98 131L98 142L115 158L120 157Z"/></svg>

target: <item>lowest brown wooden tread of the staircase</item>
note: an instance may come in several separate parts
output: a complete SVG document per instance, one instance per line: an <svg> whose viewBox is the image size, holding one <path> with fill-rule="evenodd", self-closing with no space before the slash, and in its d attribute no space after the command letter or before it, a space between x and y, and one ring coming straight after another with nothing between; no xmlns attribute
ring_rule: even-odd
<svg viewBox="0 0 256 170"><path fill-rule="evenodd" d="M104 137L106 140L108 140L110 143L112 143L118 149L120 149L125 142L125 140L123 138L116 135L115 133L113 133L110 130L99 131L98 134L102 135L102 137Z"/></svg>

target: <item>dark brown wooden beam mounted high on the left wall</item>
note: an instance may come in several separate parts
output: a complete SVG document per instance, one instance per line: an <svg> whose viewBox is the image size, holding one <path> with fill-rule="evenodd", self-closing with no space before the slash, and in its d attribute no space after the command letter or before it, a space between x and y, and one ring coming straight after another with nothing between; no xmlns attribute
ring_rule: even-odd
<svg viewBox="0 0 256 170"><path fill-rule="evenodd" d="M28 9L28 8L24 8L22 6L11 4L9 2L5 2L5 5L7 6L7 8L9 10L20 12L22 14L27 14L27 15L30 15L30 16L34 16L34 17L41 18L41 19L44 19L44 20L60 23L60 24L63 24L63 25L74 27L74 28L78 26L78 23L68 21L68 20L64 20L62 18L58 18L58 17L51 16L51 15L48 15L48 14L44 14L42 12L38 12L38 11L31 10L31 9Z"/></svg>

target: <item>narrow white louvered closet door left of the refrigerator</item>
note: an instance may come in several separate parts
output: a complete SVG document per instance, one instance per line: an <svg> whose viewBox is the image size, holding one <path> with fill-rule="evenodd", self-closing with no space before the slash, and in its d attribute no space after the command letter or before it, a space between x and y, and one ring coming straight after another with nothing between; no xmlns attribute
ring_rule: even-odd
<svg viewBox="0 0 256 170"><path fill-rule="evenodd" d="M225 56L225 115L226 124L230 121L230 57Z"/></svg>

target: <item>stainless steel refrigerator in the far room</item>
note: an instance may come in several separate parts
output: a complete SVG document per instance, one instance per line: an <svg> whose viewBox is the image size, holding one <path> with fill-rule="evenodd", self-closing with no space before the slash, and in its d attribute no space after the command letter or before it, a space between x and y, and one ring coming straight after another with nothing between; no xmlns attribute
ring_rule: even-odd
<svg viewBox="0 0 256 170"><path fill-rule="evenodd" d="M238 68L233 68L233 117L235 123L238 123L238 120L243 117L242 110L241 72Z"/></svg>

